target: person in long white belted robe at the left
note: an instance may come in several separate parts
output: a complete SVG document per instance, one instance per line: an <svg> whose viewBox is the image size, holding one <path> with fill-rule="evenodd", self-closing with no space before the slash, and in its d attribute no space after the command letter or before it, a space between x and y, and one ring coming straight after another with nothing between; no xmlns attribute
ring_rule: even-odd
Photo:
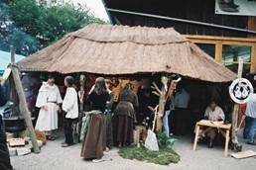
<svg viewBox="0 0 256 170"><path fill-rule="evenodd" d="M36 129L46 133L47 139L54 140L52 130L58 128L58 111L63 99L55 77L49 76L47 82L43 82L39 90L36 107L40 108Z"/></svg>

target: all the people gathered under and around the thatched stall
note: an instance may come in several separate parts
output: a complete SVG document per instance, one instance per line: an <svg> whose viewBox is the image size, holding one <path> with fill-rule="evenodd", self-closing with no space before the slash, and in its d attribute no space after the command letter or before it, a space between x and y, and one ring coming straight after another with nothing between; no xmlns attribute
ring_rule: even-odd
<svg viewBox="0 0 256 170"><path fill-rule="evenodd" d="M36 107L40 109L35 129L44 131L48 140L55 140L52 130L59 127L58 113L63 115L64 142L62 147L73 145L72 124L79 116L77 88L74 86L74 79L71 76L64 78L66 87L64 99L59 87L55 84L55 77L49 76L39 89ZM98 77L91 87L84 102L91 106L90 111L85 112L81 126L82 147L80 156L84 159L91 159L92 162L104 160L103 151L113 146L122 147L134 142L135 125L144 124L150 127L148 122L154 114L148 106L158 105L158 96L152 93L150 86L138 87L137 93L132 83L127 83L118 95L118 101L114 102L113 82L103 77ZM2 92L1 92L2 93ZM2 97L1 97L2 100ZM163 130L169 137L173 134L184 135L187 133L188 107L191 94L184 86L178 86L171 100L166 102L165 114L163 117ZM4 102L1 101L1 105ZM246 124L243 137L247 138L248 144L255 145L254 134L256 130L256 94L253 94L246 107ZM224 121L223 110L217 106L215 100L204 110L204 119L209 121ZM3 132L1 126L1 133ZM216 130L207 131L209 138L208 147L213 147L213 140ZM2 136L2 135L1 135ZM0 138L4 144L5 138ZM4 152L5 150L3 150ZM6 154L5 166L8 163ZM2 162L0 161L2 164ZM2 166L2 165L1 165Z"/></svg>

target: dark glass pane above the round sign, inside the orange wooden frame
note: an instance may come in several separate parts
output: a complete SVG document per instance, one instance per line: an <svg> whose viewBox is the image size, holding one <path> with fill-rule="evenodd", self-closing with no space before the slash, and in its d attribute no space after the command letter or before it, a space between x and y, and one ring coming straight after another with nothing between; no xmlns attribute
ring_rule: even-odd
<svg viewBox="0 0 256 170"><path fill-rule="evenodd" d="M240 58L243 60L243 73L249 73L251 66L251 46L223 44L222 63L227 68L237 73Z"/></svg>

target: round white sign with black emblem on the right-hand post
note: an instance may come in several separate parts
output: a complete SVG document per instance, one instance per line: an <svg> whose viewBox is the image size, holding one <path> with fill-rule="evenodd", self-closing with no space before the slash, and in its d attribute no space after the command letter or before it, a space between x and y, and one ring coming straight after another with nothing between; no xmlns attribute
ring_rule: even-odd
<svg viewBox="0 0 256 170"><path fill-rule="evenodd" d="M235 79L229 87L229 95L231 99L238 104L244 104L248 102L252 93L252 84L245 78Z"/></svg>

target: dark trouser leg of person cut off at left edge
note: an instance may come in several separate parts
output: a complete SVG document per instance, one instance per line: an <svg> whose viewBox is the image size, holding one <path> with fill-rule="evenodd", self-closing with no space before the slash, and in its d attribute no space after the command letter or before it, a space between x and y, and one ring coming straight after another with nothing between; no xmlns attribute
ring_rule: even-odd
<svg viewBox="0 0 256 170"><path fill-rule="evenodd" d="M0 123L0 169L13 169L10 161L9 150L6 144L6 133L4 127Z"/></svg>

